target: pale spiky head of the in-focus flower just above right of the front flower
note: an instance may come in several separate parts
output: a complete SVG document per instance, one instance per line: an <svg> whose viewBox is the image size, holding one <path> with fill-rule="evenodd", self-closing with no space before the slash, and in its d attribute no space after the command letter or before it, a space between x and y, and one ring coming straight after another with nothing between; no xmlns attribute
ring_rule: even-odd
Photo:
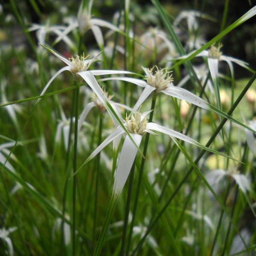
<svg viewBox="0 0 256 256"><path fill-rule="evenodd" d="M173 81L172 74L170 73L172 71L167 71L167 68L164 69L158 69L157 66L155 66L157 70L153 72L154 67L151 69L146 68L146 81L147 84L156 87L156 93L160 93L160 91L166 89L168 87L168 84Z"/></svg>

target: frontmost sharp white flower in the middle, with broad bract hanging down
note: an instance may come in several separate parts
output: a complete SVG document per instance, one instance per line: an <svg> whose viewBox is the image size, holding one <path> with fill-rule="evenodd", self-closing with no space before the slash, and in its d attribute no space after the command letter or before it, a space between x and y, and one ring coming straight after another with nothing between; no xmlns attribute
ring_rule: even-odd
<svg viewBox="0 0 256 256"><path fill-rule="evenodd" d="M130 173L131 167L134 163L134 159L136 157L138 147L140 146L141 140L143 135L148 132L151 134L155 134L153 131L159 131L164 134L167 134L171 137L175 137L177 139L183 140L185 142L191 143L193 145L196 145L200 148L203 148L207 151L210 151L215 154L220 154L218 151L215 151L213 149L207 148L204 145L201 145L197 141L193 140L190 137L187 137L184 134L181 134L177 131L174 131L172 129L166 128L164 126L158 125L156 123L150 122L148 123L146 119L146 115L150 113L151 111L147 111L143 114L140 112L133 112L129 116L126 115L124 126L127 128L130 137L134 140L136 145L133 141L131 141L131 138L126 136L125 141L122 145L121 154L119 157L119 161L117 164L116 169L116 176L114 180L114 186L113 186L113 196L116 198L119 197L119 195L122 192L122 189L125 185L125 182L128 178L128 175ZM124 134L124 130L119 126L116 128L115 131L113 131L103 142L96 148L93 153L88 157L88 159L83 163L83 165L76 171L79 172L81 168L90 161L93 157L95 157L100 151L102 151L103 148L105 148L109 143L111 143L113 140L115 140L117 137L120 137L122 134ZM234 159L233 159L234 160ZM74 175L76 175L76 173ZM72 175L72 177L74 176Z"/></svg>

